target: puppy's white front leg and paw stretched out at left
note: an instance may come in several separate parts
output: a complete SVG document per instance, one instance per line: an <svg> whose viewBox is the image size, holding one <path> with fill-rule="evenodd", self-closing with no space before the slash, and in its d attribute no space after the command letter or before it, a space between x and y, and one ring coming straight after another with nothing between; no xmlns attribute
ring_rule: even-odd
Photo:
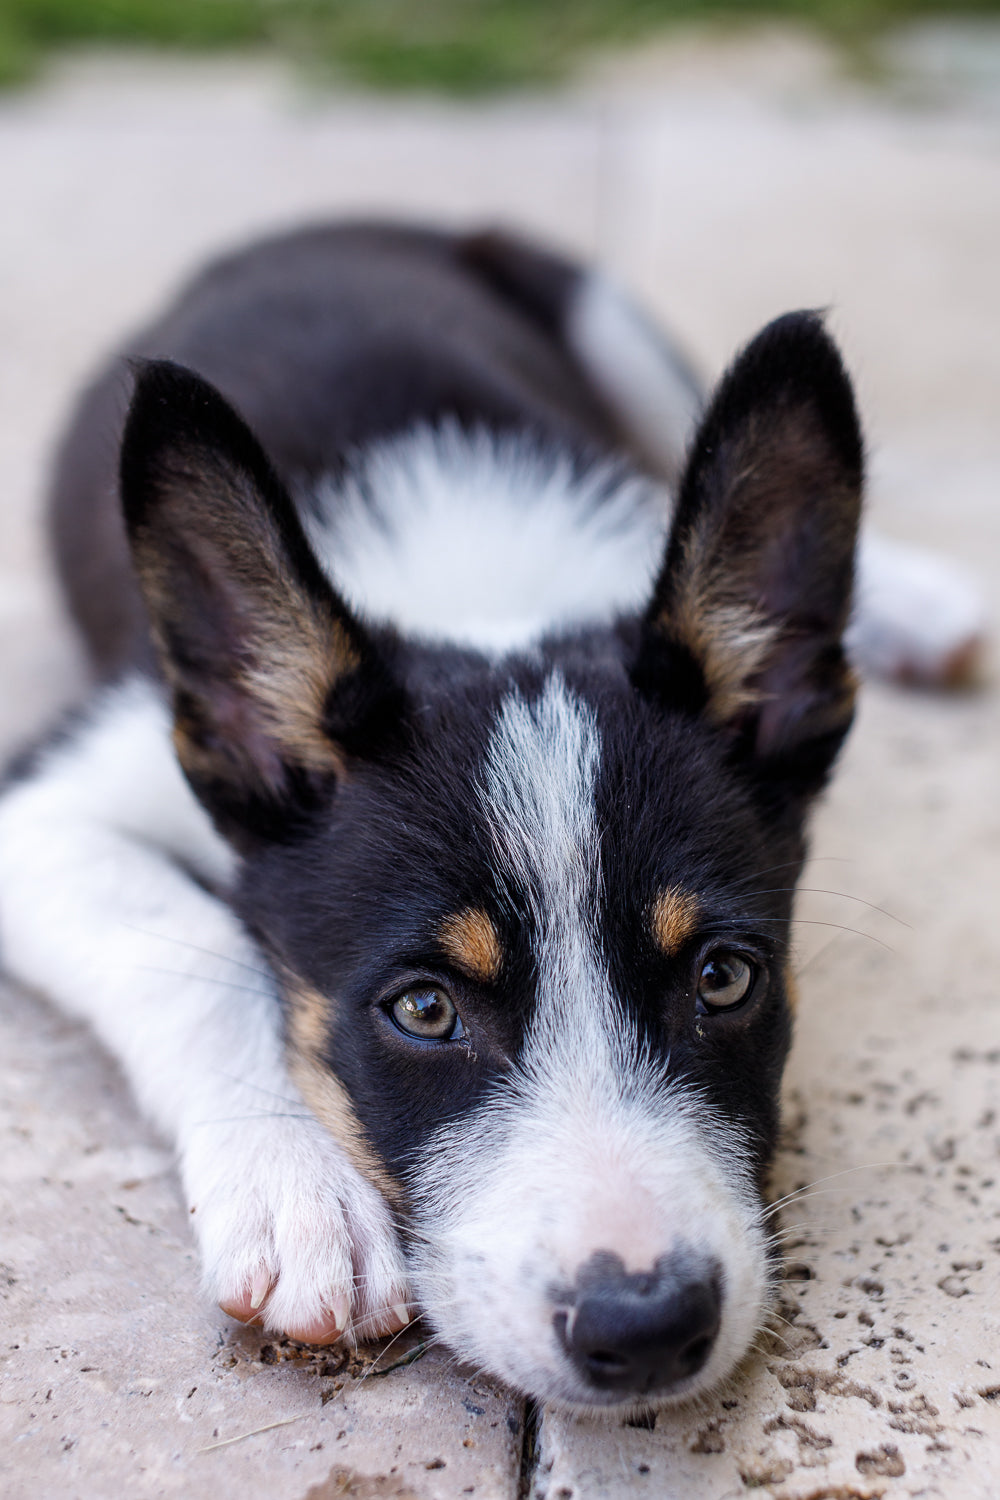
<svg viewBox="0 0 1000 1500"><path fill-rule="evenodd" d="M226 1311L315 1342L397 1329L388 1208L288 1077L274 981L211 894L231 873L156 690L117 688L0 801L4 966L93 1024L177 1146Z"/></svg>

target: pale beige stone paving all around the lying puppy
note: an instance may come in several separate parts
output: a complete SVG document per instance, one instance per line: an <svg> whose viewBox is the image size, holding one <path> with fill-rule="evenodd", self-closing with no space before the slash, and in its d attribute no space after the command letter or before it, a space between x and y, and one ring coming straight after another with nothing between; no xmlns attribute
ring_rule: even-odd
<svg viewBox="0 0 1000 1500"><path fill-rule="evenodd" d="M337 210L502 218L598 254L709 372L775 312L832 306L873 510L966 558L996 606L991 76L916 108L919 88L867 94L768 33L481 110L139 58L0 100L3 742L78 682L37 528L72 390L205 252ZM652 1431L547 1412L532 1431L442 1354L378 1374L406 1350L372 1365L237 1329L199 1299L169 1156L114 1066L4 992L1 1492L996 1500L999 730L996 674L954 699L867 692L804 882L775 1192L816 1188L783 1212L780 1318L726 1390Z"/></svg>

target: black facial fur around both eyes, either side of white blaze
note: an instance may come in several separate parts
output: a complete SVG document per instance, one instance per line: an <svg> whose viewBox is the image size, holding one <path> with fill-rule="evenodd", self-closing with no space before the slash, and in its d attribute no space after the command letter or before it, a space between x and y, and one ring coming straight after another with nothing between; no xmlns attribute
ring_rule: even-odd
<svg viewBox="0 0 1000 1500"><path fill-rule="evenodd" d="M549 660L561 663L558 646ZM687 711L669 714L637 698L624 663L589 672L562 664L570 688L597 708L603 734L598 938L615 992L654 1052L670 1056L675 1076L751 1131L763 1174L790 1038L784 966L802 846L768 826L718 736ZM336 998L325 1062L403 1184L429 1132L516 1064L532 1016L538 932L528 892L510 892L498 879L475 795L484 744L511 687L535 694L538 669L513 664L499 680L481 669L465 690L424 699L405 750L355 766L310 832L247 864L238 896L279 972ZM666 958L651 942L649 909L673 885L699 891L705 916L684 952ZM495 984L472 984L435 942L441 921L469 904L487 910L501 938ZM768 982L762 1004L714 1017L699 1034L694 981L709 940L753 950ZM415 980L457 998L468 1047L414 1044L387 1023L379 1002Z"/></svg>

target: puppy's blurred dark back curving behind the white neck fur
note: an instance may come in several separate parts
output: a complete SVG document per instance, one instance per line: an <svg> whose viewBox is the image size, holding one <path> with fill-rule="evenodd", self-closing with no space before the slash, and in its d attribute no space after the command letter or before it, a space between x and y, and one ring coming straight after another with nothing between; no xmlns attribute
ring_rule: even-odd
<svg viewBox="0 0 1000 1500"><path fill-rule="evenodd" d="M328 489L373 446L415 428L439 430L442 422L451 440L438 450L424 442L400 452L397 470L414 477L423 468L427 480L427 470L441 466L444 486L481 490L498 470L484 440L507 435L523 446L534 472L520 477L532 492L546 488L553 460L583 476L601 456L621 468L622 454L631 454L676 477L700 394L682 358L666 344L651 354L648 342L648 330L630 324L625 304L598 278L499 232L325 225L219 260L88 388L57 460L54 550L97 670L114 676L151 664L118 502L129 360L169 358L211 381L309 516L318 483ZM643 360L642 398L628 388L618 399L630 376L636 386L631 364ZM636 430L643 399L658 405L652 454ZM639 423L628 420L634 414ZM501 472L510 474L511 458L508 444ZM556 486L549 480L547 488ZM580 510L592 508L600 488L585 486ZM612 488L604 476L604 489ZM489 506L480 506L475 524L487 516ZM657 525L661 534L663 501ZM489 542L480 556L487 552ZM537 570L537 549L534 558ZM639 570L633 596L648 572ZM625 592L621 602L633 598Z"/></svg>

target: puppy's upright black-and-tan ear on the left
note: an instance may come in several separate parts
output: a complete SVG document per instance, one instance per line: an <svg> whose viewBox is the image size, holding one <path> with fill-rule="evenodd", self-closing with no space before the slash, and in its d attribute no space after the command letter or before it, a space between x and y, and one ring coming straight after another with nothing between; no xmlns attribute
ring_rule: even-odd
<svg viewBox="0 0 1000 1500"><path fill-rule="evenodd" d="M400 694L253 434L181 366L138 368L121 502L184 774L234 842L286 836Z"/></svg>

